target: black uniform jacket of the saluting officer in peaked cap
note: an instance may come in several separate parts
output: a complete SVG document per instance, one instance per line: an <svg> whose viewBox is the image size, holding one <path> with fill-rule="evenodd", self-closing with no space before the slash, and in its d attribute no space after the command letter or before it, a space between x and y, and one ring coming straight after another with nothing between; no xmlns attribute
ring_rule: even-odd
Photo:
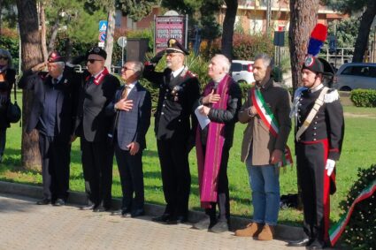
<svg viewBox="0 0 376 250"><path fill-rule="evenodd" d="M196 76L185 67L173 80L171 69L155 72L153 64L147 64L144 77L159 87L157 111L155 113L155 133L158 140L188 138L194 133L191 130L189 117L193 106L200 97L199 82ZM175 91L173 91L175 89ZM192 127L196 127L196 117L192 116Z"/></svg>

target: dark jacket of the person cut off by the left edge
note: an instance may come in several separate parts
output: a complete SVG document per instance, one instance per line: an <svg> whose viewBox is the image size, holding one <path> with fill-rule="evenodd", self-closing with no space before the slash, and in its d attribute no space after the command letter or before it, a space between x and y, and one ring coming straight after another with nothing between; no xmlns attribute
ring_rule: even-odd
<svg viewBox="0 0 376 250"><path fill-rule="evenodd" d="M8 96L8 102L11 100L11 93L13 84L16 81L16 71L13 69L7 69L5 71L5 81L0 81L0 92L6 93ZM6 117L7 103L0 103L0 128L6 128L10 126L8 119Z"/></svg>

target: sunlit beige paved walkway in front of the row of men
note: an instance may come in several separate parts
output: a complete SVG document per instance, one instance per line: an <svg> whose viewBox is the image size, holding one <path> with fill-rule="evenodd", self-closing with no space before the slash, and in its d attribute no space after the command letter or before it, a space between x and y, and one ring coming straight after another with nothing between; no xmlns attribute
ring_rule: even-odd
<svg viewBox="0 0 376 250"><path fill-rule="evenodd" d="M81 211L74 206L37 206L35 200L0 194L3 249L302 249L286 242L260 242L141 219Z"/></svg>

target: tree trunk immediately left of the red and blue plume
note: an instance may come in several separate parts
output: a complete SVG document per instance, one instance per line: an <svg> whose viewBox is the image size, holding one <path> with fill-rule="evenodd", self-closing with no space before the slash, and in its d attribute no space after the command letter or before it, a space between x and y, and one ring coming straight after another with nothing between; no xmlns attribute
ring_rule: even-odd
<svg viewBox="0 0 376 250"><path fill-rule="evenodd" d="M313 27L316 25L319 0L291 0L288 42L293 90L300 86L304 57Z"/></svg>

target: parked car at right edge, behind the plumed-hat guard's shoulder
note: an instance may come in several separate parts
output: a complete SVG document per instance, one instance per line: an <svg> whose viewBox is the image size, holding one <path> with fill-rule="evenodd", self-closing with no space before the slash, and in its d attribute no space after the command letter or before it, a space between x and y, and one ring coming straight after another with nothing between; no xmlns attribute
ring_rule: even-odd
<svg viewBox="0 0 376 250"><path fill-rule="evenodd" d="M333 87L341 91L376 89L376 64L342 64L335 73Z"/></svg>

